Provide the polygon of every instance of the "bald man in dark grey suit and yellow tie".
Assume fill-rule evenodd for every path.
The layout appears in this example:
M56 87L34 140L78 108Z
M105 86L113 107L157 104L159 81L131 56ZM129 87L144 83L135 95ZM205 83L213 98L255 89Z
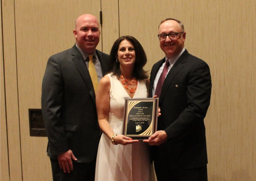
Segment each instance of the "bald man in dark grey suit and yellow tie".
M47 155L54 181L94 181L100 131L88 56L93 54L98 81L108 71L109 56L96 50L100 30L95 16L79 16L73 33L75 45L51 56L43 77Z

